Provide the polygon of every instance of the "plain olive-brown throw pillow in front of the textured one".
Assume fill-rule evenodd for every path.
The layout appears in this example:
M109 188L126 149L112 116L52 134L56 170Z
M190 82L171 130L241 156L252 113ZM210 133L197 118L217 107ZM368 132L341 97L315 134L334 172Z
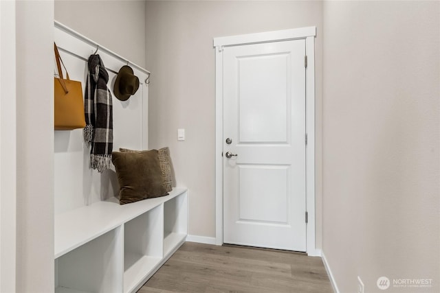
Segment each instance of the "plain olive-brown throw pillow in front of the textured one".
M112 161L120 185L120 204L168 195L162 185L157 150L142 153L113 152Z

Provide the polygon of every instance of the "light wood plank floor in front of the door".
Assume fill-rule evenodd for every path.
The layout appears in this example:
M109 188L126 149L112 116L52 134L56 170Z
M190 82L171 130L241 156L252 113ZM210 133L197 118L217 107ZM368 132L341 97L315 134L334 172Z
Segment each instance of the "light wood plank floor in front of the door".
M333 292L319 257L186 242L138 293Z

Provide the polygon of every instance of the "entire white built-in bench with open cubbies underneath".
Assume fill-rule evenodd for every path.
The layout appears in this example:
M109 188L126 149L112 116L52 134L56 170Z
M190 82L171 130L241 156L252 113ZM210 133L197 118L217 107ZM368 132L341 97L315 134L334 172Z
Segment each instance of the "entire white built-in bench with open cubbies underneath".
M187 190L120 205L116 198L55 217L55 292L136 292L184 243ZM73 289L77 288L77 289Z

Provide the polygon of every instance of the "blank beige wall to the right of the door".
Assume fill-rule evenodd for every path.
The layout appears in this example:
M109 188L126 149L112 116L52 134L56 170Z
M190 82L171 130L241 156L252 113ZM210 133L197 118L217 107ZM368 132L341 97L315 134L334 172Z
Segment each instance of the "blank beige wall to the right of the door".
M438 1L324 4L323 243L340 292L440 291Z

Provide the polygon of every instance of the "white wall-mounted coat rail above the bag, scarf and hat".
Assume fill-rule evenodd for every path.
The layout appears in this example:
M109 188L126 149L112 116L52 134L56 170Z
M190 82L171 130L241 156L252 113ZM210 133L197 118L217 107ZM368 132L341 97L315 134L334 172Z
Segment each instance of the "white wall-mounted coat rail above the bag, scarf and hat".
M87 36L83 36L82 34L72 30L71 28L63 25L62 23L60 23L58 21L54 21L54 25L58 29L63 30L64 32L67 32L68 34L71 34L72 36L75 36L79 40L82 40L84 43L87 43L87 44L89 44L89 45L91 45L93 47L96 47L97 51L102 51L105 54L109 54L110 56L113 56L114 58L116 58L116 59L126 63L127 65L131 65L131 67L135 67L136 69L146 73L147 78L145 80L145 83L149 84L149 78L150 78L150 75L151 75L150 71L144 69L143 67L140 67L139 65L131 62L130 60L127 60L126 58L123 58L122 56L116 54L115 52L111 51L110 49L107 49L106 47L103 47L102 45L94 42L93 40L91 40L89 38L87 38ZM75 54L74 52L69 51L68 49L63 48L62 46L61 47L58 46L58 49L61 49L62 51L65 51L68 54L72 54L73 56L75 56L77 58L80 58L81 60L85 60L87 62L87 58L85 58L83 56L79 56L78 54ZM118 74L118 72L114 71L113 69L107 68L107 70L109 70L109 71L111 71L111 72L113 72L115 74Z

